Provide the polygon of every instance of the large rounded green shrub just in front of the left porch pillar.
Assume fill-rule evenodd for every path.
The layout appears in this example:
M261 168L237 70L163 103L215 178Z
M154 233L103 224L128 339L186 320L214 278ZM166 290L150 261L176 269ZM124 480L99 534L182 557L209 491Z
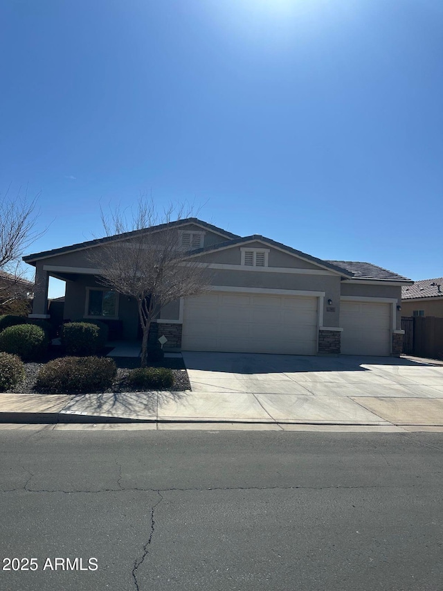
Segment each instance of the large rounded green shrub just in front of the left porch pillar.
M19 355L24 361L41 360L48 349L48 335L33 324L10 326L0 333L0 351Z

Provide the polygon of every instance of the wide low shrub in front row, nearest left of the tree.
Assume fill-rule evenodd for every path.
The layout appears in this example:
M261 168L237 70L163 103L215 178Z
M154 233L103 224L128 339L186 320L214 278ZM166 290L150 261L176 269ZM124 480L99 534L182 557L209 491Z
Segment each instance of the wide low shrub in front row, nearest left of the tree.
M35 389L48 394L103 391L112 386L116 374L116 363L109 358L64 357L42 367Z

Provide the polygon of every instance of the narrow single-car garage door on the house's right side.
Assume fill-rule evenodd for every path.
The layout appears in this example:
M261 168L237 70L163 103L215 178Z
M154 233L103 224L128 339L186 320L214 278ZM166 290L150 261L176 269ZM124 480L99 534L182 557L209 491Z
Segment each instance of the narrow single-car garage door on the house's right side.
M390 304L341 301L341 353L390 355Z

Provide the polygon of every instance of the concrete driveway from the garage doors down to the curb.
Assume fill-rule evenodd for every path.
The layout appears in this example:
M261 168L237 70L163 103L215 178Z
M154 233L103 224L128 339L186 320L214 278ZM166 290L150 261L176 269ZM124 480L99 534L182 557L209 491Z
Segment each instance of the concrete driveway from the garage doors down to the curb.
M414 358L339 358L183 353L192 394L208 405L255 409L275 421L443 425L443 363ZM246 418L246 417L245 417ZM248 416L248 418L250 418Z

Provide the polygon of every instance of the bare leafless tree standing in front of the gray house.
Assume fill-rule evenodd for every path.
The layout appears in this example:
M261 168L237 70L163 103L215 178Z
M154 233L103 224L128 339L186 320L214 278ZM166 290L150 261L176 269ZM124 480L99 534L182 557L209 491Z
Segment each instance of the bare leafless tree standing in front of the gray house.
M202 293L208 289L206 266L181 245L179 222L190 217L186 206L170 206L159 214L152 199L142 195L135 211L114 209L102 223L107 236L89 255L100 269L100 283L138 304L138 318L143 332L141 367L147 366L148 335L152 321L163 306Z

